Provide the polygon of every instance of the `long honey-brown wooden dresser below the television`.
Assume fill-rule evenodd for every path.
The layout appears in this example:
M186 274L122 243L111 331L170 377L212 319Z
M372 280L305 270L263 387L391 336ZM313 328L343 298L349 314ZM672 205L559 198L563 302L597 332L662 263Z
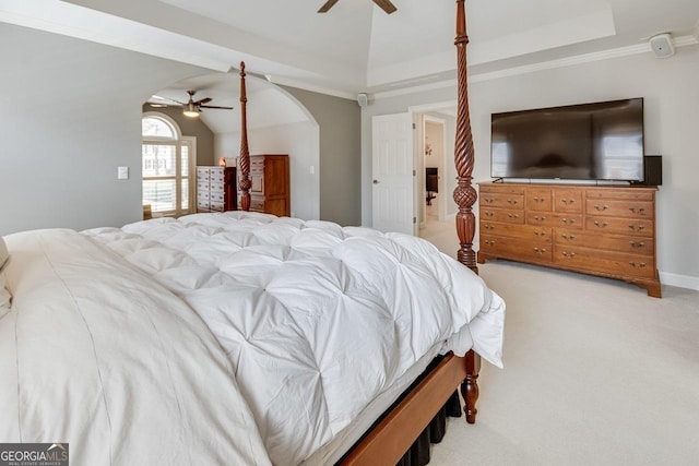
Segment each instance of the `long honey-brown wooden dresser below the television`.
M656 191L482 183L478 263L499 258L618 278L660 298Z

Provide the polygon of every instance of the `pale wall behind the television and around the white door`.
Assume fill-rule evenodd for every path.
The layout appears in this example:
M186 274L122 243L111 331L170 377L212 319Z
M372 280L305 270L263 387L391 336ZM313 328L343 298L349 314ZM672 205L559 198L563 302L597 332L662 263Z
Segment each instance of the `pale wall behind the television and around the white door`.
M645 153L663 156L657 194L657 267L666 284L699 289L699 46L668 59L650 51L469 85L476 164L474 180L489 180L490 113L524 108L643 97ZM371 223L372 115L453 99L455 88L377 98L363 112L363 223ZM368 169L367 169L368 167Z

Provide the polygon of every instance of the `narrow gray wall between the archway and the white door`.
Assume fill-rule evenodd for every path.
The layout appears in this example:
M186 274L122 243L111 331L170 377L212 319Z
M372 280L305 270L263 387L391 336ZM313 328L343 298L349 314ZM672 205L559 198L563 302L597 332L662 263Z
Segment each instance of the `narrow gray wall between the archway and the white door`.
M320 218L362 222L360 107L356 100L284 87L320 127Z

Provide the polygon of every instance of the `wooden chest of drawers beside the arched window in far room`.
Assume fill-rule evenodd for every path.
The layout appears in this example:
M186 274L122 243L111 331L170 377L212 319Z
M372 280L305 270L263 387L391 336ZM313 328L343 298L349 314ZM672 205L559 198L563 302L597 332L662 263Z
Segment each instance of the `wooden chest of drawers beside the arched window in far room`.
M197 167L197 212L235 211L235 167Z

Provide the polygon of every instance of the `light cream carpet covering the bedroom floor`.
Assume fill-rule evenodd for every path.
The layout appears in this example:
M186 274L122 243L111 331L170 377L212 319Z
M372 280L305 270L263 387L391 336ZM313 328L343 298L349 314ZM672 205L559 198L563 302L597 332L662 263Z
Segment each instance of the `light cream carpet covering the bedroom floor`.
M454 256L453 223L420 236ZM479 377L476 425L450 419L440 465L699 464L699 292L491 261L505 369Z

